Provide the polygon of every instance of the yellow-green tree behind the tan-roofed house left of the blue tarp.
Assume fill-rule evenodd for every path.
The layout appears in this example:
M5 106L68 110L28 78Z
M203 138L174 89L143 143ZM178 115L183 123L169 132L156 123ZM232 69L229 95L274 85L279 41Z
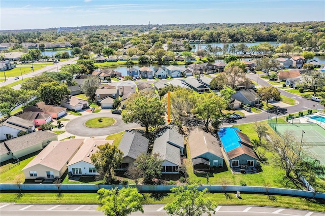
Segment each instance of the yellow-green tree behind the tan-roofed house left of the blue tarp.
M222 97L214 93L193 95L194 112L203 120L205 129L208 131L210 122L221 115L226 104Z

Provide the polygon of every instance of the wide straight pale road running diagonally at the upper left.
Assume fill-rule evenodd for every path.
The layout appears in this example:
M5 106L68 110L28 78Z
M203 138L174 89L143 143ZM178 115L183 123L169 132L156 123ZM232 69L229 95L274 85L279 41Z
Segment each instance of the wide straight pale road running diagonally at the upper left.
M58 63L55 63L55 64L51 64L52 62L49 62L47 66L39 69L39 70L35 70L34 72L30 72L28 74L24 74L23 75L23 78L28 78L28 77L35 77L35 76L39 76L41 75L43 72L45 71L57 71L59 70L63 65L66 65L66 64L74 64L76 63L75 61L78 59L78 57L74 57L74 58L71 58L67 61L59 61ZM37 64L35 64L37 65ZM18 64L18 67L19 67L19 64ZM19 79L21 79L21 76L19 76ZM17 80L15 80L14 77L7 77L7 80L5 82L2 82L0 83L0 86L6 86L6 85L9 85L9 84L12 84L14 82L16 82ZM14 86L16 87L15 89L19 89L21 85L17 85L17 86ZM19 87L19 88L17 88Z

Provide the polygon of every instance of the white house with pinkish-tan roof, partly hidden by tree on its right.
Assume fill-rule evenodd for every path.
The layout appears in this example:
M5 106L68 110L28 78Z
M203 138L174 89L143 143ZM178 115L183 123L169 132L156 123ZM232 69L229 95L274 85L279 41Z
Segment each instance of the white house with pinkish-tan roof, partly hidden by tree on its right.
M73 175L97 175L98 172L91 162L91 156L99 151L99 146L106 143L112 145L113 140L105 140L105 138L85 139L78 152L67 164L68 172Z

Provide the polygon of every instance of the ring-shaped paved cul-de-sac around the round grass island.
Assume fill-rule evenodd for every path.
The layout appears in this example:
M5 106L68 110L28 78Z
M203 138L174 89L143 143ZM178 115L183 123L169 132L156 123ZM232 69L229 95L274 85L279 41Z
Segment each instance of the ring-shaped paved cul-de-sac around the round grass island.
M114 125L103 127L103 128L89 128L85 126L85 122L87 120L93 118L99 118L99 117L114 118L116 120L116 123ZM69 123L66 124L66 131L78 136L91 137L91 136L103 136L103 135L114 134L124 130L138 128L138 127L140 127L140 125L135 123L125 124L122 121L121 115L116 115L112 113L96 113L96 114L89 114L86 116L78 117L76 119L69 121Z

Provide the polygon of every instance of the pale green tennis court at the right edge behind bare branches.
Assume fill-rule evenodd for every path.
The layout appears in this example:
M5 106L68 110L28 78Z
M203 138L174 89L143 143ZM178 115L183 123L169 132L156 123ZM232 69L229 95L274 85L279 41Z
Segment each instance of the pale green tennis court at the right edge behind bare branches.
M271 125L270 125L271 126ZM325 129L314 123L306 124L272 124L273 130L276 127L278 133L283 133L285 130L293 131L297 140L306 143L307 150L318 159L321 164L325 165Z

